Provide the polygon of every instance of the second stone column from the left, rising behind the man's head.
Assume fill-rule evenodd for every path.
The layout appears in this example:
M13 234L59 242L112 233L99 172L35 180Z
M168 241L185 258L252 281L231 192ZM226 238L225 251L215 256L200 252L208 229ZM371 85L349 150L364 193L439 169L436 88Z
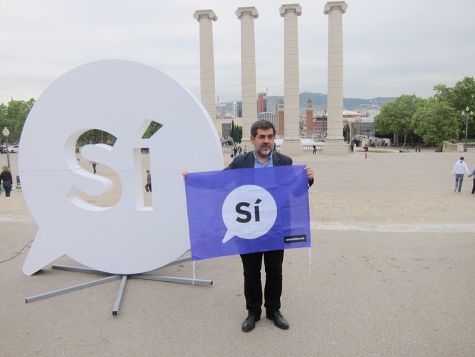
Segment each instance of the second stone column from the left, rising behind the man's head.
M241 147L251 147L251 125L257 120L255 101L255 39L254 19L259 17L253 6L237 8L237 19L241 20L241 90L242 90L242 141Z

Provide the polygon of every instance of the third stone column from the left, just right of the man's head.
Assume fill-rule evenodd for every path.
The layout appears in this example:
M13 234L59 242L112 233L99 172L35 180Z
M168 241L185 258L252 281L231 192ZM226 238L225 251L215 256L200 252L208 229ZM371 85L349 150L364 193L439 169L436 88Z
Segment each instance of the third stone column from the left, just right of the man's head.
M284 154L303 154L299 127L299 35L297 17L302 7L297 3L282 5L280 16L284 17Z

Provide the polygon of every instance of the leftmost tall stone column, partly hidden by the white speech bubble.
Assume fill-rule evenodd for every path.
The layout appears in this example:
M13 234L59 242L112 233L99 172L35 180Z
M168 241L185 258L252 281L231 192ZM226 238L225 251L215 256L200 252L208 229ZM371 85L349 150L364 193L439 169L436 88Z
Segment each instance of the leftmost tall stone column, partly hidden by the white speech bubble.
M216 119L213 21L218 17L213 10L197 10L193 17L200 23L200 89L201 103L209 112L209 116L222 137L221 122Z

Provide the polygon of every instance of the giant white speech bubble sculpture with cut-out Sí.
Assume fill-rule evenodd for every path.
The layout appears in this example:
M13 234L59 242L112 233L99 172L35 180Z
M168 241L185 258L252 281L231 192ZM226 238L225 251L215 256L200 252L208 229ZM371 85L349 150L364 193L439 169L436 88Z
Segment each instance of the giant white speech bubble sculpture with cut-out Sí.
M152 121L162 128L142 139ZM76 160L76 141L93 129L117 138L113 146L81 150L87 160L118 175L122 192L111 207L78 196L98 196L114 185ZM142 148L149 149L153 207L142 199ZM23 194L39 225L23 273L34 274L65 254L112 274L149 272L171 263L189 249L181 172L220 170L222 163L207 110L166 74L122 60L67 72L41 94L21 135Z

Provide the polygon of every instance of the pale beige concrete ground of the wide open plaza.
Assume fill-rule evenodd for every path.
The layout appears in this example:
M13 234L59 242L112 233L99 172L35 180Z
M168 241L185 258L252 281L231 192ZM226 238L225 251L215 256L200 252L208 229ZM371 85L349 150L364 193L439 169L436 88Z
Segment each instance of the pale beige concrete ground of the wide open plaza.
M101 276L50 267L24 276L37 226L21 191L2 194L0 356L474 356L475 196L466 176L462 192L453 192L459 156L293 158L311 165L316 180L313 247L284 258L287 331L265 318L241 331L238 256L196 262L196 278L211 287L129 280L118 316L120 281L26 304ZM473 170L475 152L464 156ZM17 154L10 159L15 175ZM112 175L100 165L98 174ZM55 263L79 265L67 256ZM190 278L193 265L156 274Z

